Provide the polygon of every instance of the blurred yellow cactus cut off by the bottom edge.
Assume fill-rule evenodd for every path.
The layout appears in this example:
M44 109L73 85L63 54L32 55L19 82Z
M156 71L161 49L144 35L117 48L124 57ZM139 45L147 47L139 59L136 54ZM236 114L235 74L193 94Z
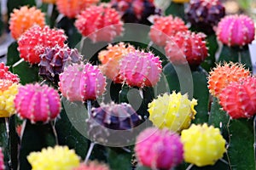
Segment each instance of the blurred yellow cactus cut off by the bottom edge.
M32 170L70 170L79 167L79 156L67 146L48 147L41 152L32 152L27 156Z

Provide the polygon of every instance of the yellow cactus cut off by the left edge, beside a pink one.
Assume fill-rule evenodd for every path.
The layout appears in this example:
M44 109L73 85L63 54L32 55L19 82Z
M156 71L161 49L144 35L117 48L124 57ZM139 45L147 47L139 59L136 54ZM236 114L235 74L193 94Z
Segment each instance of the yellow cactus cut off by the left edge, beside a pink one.
M0 80L0 117L9 117L15 114L15 95L18 94L17 83Z

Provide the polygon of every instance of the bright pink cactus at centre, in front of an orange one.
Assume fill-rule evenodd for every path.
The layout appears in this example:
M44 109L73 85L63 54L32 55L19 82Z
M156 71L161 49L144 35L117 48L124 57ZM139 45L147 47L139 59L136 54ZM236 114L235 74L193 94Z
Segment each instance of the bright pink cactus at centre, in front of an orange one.
M153 87L160 79L162 65L159 57L141 51L126 54L120 61L120 79L129 86Z

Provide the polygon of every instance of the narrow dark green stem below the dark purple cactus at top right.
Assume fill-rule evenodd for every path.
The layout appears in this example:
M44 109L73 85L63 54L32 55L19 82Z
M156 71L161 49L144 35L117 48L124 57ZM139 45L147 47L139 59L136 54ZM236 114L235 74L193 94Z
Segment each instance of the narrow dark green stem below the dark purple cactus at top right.
M206 71L211 71L212 67L215 66L215 54L218 50L218 42L215 34L211 34L207 36L207 47L209 56L207 59L201 63L201 67L203 67Z

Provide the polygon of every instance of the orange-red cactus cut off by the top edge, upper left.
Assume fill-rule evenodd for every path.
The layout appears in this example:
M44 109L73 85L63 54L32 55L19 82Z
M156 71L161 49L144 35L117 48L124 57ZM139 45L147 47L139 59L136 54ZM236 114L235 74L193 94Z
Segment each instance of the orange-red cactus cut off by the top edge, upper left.
M99 2L99 0L55 0L58 10L68 18L75 18L85 8Z

